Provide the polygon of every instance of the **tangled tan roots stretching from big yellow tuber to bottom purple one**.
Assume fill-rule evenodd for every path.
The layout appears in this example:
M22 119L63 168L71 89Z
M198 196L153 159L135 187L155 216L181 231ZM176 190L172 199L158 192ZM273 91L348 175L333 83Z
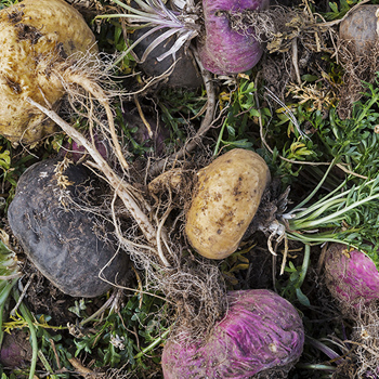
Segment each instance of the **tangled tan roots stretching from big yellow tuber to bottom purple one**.
M155 192L149 193L148 187L141 183L134 185L112 107L112 99L123 93L110 84L108 88L103 86L113 82L109 79L114 57L104 60L104 56L87 55L69 62L53 67L52 73L67 92L69 107L66 114L80 115L87 121L88 131L74 128L49 104L39 104L31 99L28 102L53 119L75 142L84 146L90 157L86 166L108 186L102 215L114 225L119 253L127 253L135 269L144 275L144 291L165 296L171 305L169 314L174 322L173 330L180 334L184 328L186 334L190 331L195 338L204 338L205 332L224 314L226 290L218 265L194 257L186 248L182 224L195 171L179 175L180 180L187 178L185 185L180 180L177 183L171 174L165 175L165 170L160 170L164 177L155 181L155 187L151 186ZM211 84L207 86L211 89ZM211 95L210 103L212 107L208 109L206 122L202 122L190 148L197 146L197 139L210 127L214 105ZM99 138L106 141L108 157L103 157L97 151L95 142ZM185 157L187 147L175 156L177 162ZM162 164L166 165L167 160ZM148 173L147 177L152 178ZM187 198L184 200L184 197ZM82 204L80 206L83 207ZM116 283L113 285L122 288Z

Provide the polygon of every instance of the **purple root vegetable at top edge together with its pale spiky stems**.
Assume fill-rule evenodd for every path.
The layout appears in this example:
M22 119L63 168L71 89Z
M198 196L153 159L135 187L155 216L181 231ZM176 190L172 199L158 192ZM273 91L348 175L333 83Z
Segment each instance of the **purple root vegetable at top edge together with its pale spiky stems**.
M170 49L165 49L162 54L157 55L158 61L164 61L169 55L174 58L175 53L182 47L187 47L194 38L197 38L202 66L213 74L232 75L246 71L262 56L263 47L257 40L252 25L246 22L244 15L265 10L270 0L202 0L202 12L199 12L199 6L193 1L186 2L182 9L175 11L167 9L161 0L138 0L135 3L139 9L120 0L112 1L128 13L99 17L125 17L133 26L149 27L145 32L146 38L158 30L165 30L148 45L142 61L172 36L175 36L175 42ZM140 43L141 38L136 39L130 49Z

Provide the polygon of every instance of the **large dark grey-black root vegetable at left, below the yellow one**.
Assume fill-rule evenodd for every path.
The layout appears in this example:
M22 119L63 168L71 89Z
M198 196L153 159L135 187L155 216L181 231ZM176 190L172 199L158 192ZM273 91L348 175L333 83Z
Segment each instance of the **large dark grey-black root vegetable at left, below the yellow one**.
M58 289L73 297L96 297L110 288L99 278L103 272L110 283L128 275L128 257L116 253L109 224L76 202L91 187L88 171L69 166L56 174L57 160L31 166L21 177L8 218L13 234L39 271ZM58 185L60 180L61 185Z

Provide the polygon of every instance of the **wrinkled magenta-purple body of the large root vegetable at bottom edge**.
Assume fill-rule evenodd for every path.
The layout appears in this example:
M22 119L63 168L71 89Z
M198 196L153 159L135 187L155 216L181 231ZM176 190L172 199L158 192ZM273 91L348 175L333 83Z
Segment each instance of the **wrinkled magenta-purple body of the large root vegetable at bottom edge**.
M228 292L228 311L207 341L169 341L165 379L246 379L291 366L302 354L304 329L291 303L267 289Z

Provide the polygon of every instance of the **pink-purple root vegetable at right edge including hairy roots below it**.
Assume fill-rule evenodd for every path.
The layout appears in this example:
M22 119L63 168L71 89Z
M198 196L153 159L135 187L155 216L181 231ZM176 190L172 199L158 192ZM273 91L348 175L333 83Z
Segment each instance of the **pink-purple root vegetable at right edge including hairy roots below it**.
M354 347L358 378L379 378L379 273L364 252L332 244L325 256L325 283L344 317L353 323L349 343Z

